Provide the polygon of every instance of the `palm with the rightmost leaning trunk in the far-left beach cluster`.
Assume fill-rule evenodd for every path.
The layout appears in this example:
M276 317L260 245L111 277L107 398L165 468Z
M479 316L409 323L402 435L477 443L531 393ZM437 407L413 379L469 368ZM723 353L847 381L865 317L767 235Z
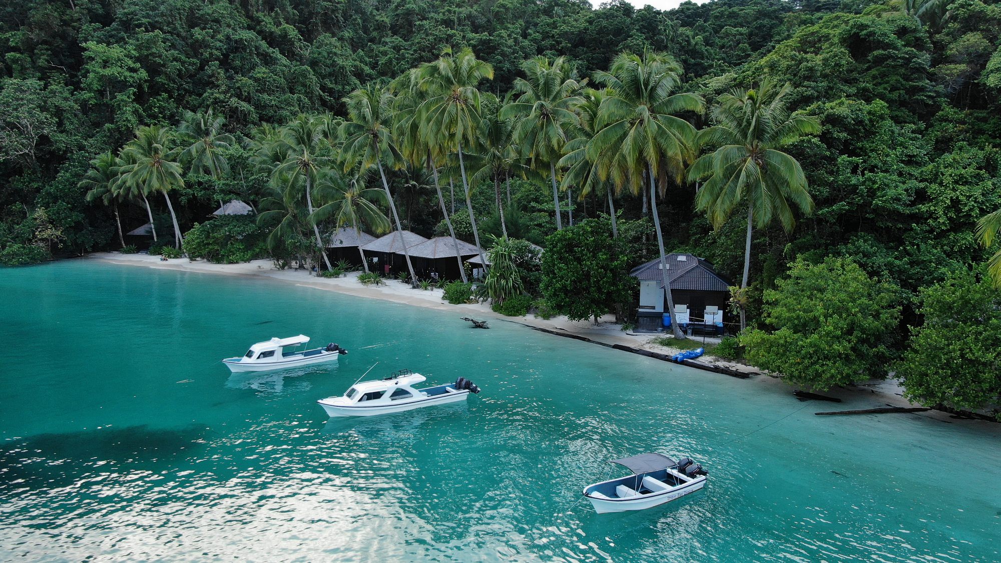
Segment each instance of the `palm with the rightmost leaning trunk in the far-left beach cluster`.
M123 166L122 172L129 184L142 188L144 197L147 193L156 191L163 193L163 198L167 200L167 209L170 210L170 218L174 223L174 247L180 248L184 238L181 236L177 214L174 213L174 206L170 203L168 194L175 187L184 187L184 179L181 178L183 170L177 163L178 150L166 148L172 140L170 130L166 127L160 125L139 127L135 135L123 150L134 159L134 163Z

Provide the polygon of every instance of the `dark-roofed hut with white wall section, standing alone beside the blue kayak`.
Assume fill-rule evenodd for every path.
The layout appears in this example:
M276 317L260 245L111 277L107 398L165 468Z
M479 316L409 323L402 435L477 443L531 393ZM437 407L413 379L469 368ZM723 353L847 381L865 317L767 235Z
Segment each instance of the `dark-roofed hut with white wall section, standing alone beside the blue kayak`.
M696 327L722 334L723 316L730 301L729 279L712 262L685 252L667 255L667 275L662 276L661 258L633 268L630 275L640 279L638 332L661 332L676 320L682 328ZM674 315L668 311L664 279L671 285Z

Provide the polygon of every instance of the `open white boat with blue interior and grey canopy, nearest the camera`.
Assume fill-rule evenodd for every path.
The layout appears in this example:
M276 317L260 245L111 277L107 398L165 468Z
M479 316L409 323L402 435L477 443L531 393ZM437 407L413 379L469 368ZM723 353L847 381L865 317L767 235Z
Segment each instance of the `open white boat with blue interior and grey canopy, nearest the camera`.
M646 510L706 485L706 471L688 458L676 462L661 454L643 454L609 463L625 466L633 475L585 487L584 496L599 514Z

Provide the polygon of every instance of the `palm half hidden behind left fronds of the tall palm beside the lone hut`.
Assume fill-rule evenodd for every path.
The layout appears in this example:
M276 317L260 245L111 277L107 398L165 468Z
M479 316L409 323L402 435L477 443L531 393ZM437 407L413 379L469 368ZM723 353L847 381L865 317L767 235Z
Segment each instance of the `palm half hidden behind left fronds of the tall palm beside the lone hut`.
M603 189L605 190L609 197L612 236L619 236L616 203L612 199L613 190L608 185L608 181L602 179L601 174L599 174L598 159L591 160L588 158L588 145L591 143L591 139L595 137L595 133L598 132L599 111L606 95L604 89L594 90L588 88L584 90L581 96L584 101L574 108L578 115L580 126L575 131L574 138L568 141L564 147L567 151L566 156L561 158L557 165L568 167L567 173L564 174L562 187L569 189L571 185L580 186L582 199L593 190L598 190L599 192Z

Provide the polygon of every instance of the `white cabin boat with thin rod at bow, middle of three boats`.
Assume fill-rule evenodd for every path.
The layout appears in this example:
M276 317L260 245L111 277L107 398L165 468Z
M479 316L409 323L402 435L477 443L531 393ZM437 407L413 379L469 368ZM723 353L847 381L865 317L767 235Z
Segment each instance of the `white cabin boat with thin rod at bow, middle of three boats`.
M400 370L380 380L355 383L343 396L320 399L317 403L331 417L370 417L456 403L465 401L470 393L479 393L479 388L465 378L458 378L453 384L413 388L426 379L409 370Z

